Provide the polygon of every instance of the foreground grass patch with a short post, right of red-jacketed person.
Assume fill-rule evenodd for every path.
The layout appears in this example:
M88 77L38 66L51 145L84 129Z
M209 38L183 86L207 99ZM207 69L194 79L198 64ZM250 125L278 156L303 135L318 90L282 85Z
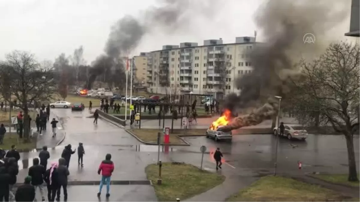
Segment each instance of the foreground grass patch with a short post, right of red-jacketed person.
M163 163L161 171L162 184L157 184L159 167L148 165L146 175L152 181L159 202L181 201L203 193L225 180L225 176L202 171L188 164Z

